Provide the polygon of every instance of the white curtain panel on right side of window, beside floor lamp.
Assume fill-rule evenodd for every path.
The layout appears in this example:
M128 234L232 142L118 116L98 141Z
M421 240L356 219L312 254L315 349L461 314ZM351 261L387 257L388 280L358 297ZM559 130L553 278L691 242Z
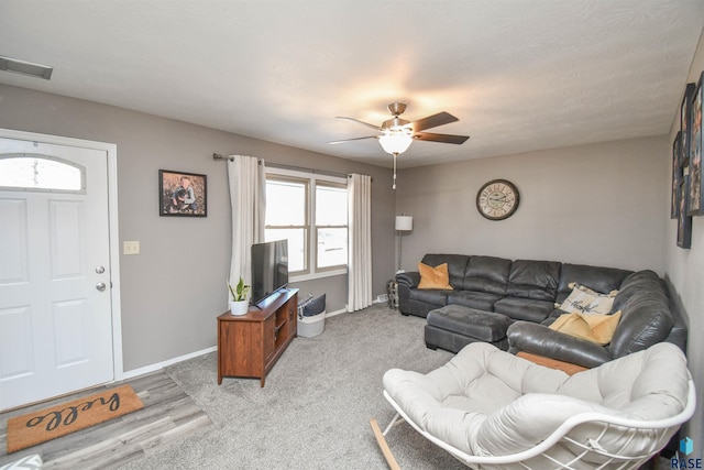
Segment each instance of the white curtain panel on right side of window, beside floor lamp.
M348 311L372 305L372 177L348 177Z

